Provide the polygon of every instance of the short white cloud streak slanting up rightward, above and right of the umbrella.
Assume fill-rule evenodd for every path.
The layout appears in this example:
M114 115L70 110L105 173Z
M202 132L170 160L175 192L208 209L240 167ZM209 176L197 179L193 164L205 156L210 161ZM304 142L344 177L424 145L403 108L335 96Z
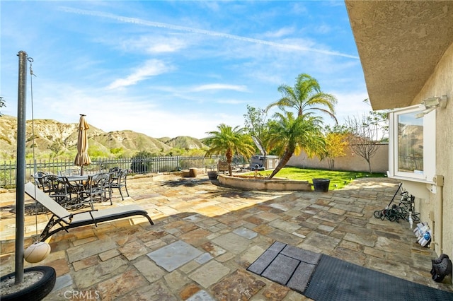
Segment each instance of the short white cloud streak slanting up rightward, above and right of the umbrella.
M124 88L128 85L135 85L139 81L144 81L150 76L156 76L171 69L172 67L166 66L163 61L159 61L158 59L149 59L148 61L145 61L143 66L139 66L137 69L135 69L132 74L125 78L118 78L117 80L113 81L113 83L110 83L107 88L109 90L113 90Z

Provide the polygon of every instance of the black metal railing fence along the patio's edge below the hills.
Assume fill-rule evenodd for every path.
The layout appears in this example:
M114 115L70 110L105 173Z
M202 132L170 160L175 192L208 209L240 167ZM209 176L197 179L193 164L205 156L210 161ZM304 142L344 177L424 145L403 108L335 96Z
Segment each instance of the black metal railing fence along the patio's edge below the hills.
M151 157L151 158L96 158L91 159L91 164L84 166L84 174L95 174L97 172L108 172L110 168L120 167L127 169L132 174L145 174L152 172L173 172L188 170L189 168L206 168L217 170L219 160L223 156L197 157ZM235 163L242 163L242 160L235 158ZM31 179L36 172L47 172L57 175L59 172L74 169L74 160L28 160L25 163L25 181ZM80 167L76 167L79 168ZM16 161L0 162L0 188L16 187Z

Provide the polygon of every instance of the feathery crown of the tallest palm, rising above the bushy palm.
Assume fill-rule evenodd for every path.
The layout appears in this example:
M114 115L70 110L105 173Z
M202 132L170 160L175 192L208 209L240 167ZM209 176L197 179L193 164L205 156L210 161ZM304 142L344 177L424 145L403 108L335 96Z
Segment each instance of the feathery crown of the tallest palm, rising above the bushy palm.
M280 87L278 87L278 92L282 94L282 98L277 100L277 102L268 105L266 111L275 106L283 111L285 111L287 107L292 107L297 110L298 117L307 113L313 114L314 112L321 112L323 114L328 114L335 122L337 122L335 117L335 105L337 100L335 96L323 93L318 81L308 74L299 74L294 88L285 84L280 85Z

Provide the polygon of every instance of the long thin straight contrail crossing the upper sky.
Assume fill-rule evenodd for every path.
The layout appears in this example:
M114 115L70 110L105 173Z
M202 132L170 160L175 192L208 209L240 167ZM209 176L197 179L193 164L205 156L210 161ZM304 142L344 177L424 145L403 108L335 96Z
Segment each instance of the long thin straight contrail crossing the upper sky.
M196 33L199 35L210 35L213 37L224 37L226 39L231 39L231 40L240 40L243 42L251 42L251 43L256 43L256 44L261 44L261 45L268 45L268 46L272 46L272 47L280 47L280 48L285 48L285 49L290 49L290 50L300 51L300 52L317 52L317 53L326 54L326 55L330 55L330 56L348 57L350 59L359 59L359 57L354 56L354 55L328 51L325 49L316 49L316 48L304 47L301 45L282 44L282 43L270 42L270 41L266 41L266 40L253 39L251 37L241 37L240 35L230 35L228 33L219 33L219 32L212 31L212 30L188 28L185 26L153 22L153 21L143 20L140 18L117 16L112 13L104 13L102 11L86 11L83 9L70 8L67 6L60 6L59 9L61 11L67 12L67 13L78 13L78 14L86 15L86 16L110 18L110 19L117 20L117 21L120 21L123 23L133 23L133 24L137 24L137 25L151 26L151 27L155 27L155 28L166 28L169 30L184 31L184 32L188 32L188 33Z

